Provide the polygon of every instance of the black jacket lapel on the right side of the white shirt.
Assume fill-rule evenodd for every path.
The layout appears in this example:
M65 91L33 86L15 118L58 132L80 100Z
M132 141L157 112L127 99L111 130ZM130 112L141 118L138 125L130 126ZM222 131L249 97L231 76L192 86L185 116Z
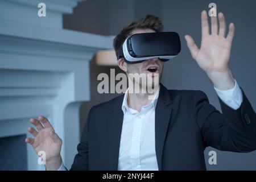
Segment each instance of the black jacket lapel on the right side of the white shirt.
M164 141L172 113L172 102L168 90L160 84L160 93L155 109L155 151L158 169L162 170Z

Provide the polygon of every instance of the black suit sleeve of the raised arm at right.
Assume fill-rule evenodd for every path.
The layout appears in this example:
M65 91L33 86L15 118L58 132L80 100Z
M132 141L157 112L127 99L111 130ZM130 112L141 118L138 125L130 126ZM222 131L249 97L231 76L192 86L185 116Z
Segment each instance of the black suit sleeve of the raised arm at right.
M204 147L233 152L256 150L256 115L245 93L242 94L243 101L237 110L219 99L222 114L209 104L204 92L195 94L194 113Z

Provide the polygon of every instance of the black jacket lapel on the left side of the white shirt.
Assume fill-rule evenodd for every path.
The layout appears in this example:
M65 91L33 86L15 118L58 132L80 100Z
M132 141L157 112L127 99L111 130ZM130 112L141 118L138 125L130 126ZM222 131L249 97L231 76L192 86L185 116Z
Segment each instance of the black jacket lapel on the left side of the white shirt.
M109 164L110 170L113 171L118 169L119 146L123 125L122 101L123 96L120 96L108 115Z

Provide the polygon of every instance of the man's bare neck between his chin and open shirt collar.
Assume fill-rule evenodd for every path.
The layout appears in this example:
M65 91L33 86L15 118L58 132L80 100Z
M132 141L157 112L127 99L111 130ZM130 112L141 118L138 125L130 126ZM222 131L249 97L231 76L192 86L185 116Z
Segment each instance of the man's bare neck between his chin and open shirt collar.
M153 93L129 93L127 97L127 105L134 110L141 111L142 106L146 106L150 104L152 98L154 98L159 85L154 88Z

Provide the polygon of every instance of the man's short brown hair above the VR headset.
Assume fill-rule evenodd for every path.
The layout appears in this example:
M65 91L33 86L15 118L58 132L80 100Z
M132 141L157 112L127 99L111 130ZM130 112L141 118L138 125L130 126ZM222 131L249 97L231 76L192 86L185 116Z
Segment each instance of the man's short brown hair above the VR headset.
M158 16L146 15L144 18L138 19L129 26L123 28L123 30L114 38L113 46L115 49L115 55L118 56L119 48L122 46L123 42L125 42L125 39L137 28L149 28L156 32L162 32L164 27Z

